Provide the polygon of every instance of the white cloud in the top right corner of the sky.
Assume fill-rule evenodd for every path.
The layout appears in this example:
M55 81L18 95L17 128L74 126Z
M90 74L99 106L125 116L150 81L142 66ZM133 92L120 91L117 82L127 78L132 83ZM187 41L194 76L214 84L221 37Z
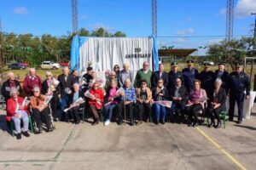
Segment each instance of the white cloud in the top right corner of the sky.
M235 15L239 18L250 16L251 13L256 13L255 0L238 0L235 8Z

